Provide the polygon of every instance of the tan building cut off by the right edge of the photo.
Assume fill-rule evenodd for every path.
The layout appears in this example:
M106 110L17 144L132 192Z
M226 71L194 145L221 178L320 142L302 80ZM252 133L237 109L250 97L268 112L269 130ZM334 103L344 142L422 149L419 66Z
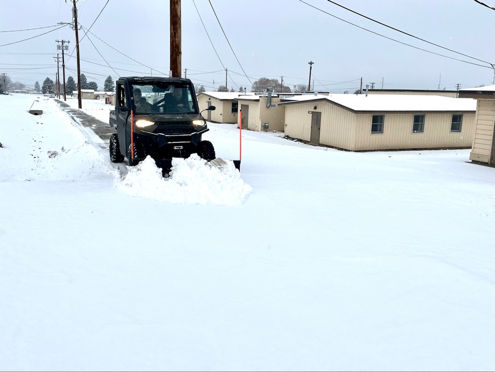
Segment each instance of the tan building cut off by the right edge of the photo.
M477 100L475 136L469 159L495 166L495 85L461 89L459 97Z

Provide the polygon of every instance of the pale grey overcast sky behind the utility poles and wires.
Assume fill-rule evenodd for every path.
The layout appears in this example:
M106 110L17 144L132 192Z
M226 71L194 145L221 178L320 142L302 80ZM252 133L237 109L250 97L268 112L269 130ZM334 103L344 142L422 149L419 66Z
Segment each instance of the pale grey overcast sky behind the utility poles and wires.
M431 90L491 85L495 10L490 7L495 7L495 0L480 1L487 6L475 0L334 1L416 37L412 38L327 0L182 0L183 77L187 69L195 84L216 91L226 84L227 69L229 90L247 87L249 92L261 77L280 81L282 76L284 85L293 89L308 84L312 61L311 85L333 93L353 93L361 78L363 88L375 83L379 89L382 85ZM55 80L55 40L63 39L70 41L66 78L77 80L75 33L68 25L59 30L5 32L71 23L72 6L72 0L2 0L0 73L27 86L36 81L41 85L47 77ZM77 7L83 27L81 72L88 81L96 81L102 89L109 75L114 80L168 75L169 1L78 0ZM15 44L5 45L10 43Z

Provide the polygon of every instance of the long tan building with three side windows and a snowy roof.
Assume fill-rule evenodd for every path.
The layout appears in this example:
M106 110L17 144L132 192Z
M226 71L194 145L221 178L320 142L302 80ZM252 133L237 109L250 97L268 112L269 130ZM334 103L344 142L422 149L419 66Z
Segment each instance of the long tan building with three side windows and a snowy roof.
M283 99L285 135L351 151L469 148L476 101L439 95L331 94Z

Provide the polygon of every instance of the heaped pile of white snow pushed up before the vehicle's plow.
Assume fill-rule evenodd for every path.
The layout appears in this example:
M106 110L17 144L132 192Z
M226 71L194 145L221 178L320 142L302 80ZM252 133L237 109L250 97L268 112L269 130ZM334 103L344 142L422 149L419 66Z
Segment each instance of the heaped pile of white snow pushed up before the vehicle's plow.
M170 177L163 178L154 160L147 157L129 171L118 185L133 196L176 204L240 205L252 191L232 161L217 167L192 154L173 158Z

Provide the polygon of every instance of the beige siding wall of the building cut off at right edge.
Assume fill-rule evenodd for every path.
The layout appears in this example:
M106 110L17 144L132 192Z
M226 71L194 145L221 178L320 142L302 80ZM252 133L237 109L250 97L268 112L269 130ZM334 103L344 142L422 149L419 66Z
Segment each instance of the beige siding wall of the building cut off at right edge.
M494 99L478 99L475 121L476 129L469 159L489 163L494 138Z

